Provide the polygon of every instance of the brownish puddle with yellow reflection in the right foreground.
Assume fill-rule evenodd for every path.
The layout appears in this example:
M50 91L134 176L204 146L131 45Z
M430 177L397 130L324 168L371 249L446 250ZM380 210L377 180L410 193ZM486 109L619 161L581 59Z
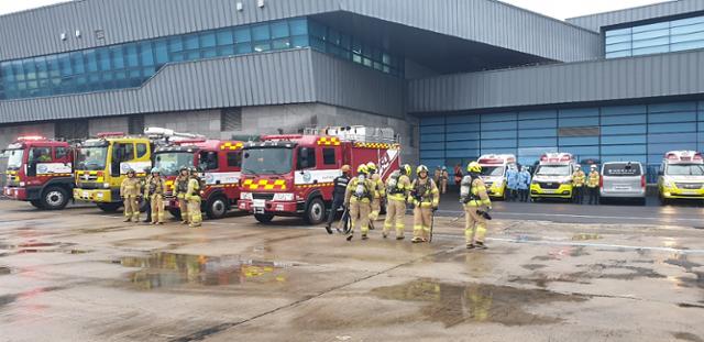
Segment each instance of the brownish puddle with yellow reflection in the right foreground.
M588 298L541 289L521 289L490 284L455 285L421 278L406 284L373 289L372 295L388 300L426 304L425 320L446 328L465 322L494 322L504 326L551 324L559 317L540 316L527 310L556 301L581 302Z

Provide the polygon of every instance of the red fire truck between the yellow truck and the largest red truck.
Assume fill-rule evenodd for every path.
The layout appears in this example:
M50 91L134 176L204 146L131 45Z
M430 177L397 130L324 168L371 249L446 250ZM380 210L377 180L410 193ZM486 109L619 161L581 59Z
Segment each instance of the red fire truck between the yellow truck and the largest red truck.
M220 219L228 210L237 208L240 199L240 169L242 147L240 141L190 140L173 142L156 150L154 165L166 177L166 209L180 218L178 200L174 197L174 180L182 167L202 170L206 186L202 189L204 211L210 219Z

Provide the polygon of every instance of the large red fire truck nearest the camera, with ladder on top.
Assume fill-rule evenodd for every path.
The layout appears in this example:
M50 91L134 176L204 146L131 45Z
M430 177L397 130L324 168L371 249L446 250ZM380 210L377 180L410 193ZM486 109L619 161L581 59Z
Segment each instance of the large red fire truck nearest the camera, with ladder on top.
M309 129L268 135L244 146L239 208L266 223L275 216L322 222L342 165L374 162L385 180L400 167L400 145L391 129Z

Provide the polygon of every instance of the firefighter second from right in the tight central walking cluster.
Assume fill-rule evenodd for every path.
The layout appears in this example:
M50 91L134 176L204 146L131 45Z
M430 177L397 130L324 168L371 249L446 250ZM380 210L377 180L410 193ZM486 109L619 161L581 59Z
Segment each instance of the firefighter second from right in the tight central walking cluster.
M410 165L404 165L399 170L395 170L386 179L386 220L384 221L384 239L388 236L388 231L396 225L396 240L404 240L406 229L406 199L410 191Z

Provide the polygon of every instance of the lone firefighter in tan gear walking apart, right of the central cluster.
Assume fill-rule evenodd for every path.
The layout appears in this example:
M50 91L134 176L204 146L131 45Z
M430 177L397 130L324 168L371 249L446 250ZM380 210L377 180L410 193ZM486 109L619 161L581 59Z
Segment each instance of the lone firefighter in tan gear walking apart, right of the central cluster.
M492 200L486 194L484 180L480 177L482 166L472 162L466 167L468 175L460 186L460 201L464 207L465 225L464 238L468 250L485 250L484 236L486 235L486 221L488 211L492 210Z

